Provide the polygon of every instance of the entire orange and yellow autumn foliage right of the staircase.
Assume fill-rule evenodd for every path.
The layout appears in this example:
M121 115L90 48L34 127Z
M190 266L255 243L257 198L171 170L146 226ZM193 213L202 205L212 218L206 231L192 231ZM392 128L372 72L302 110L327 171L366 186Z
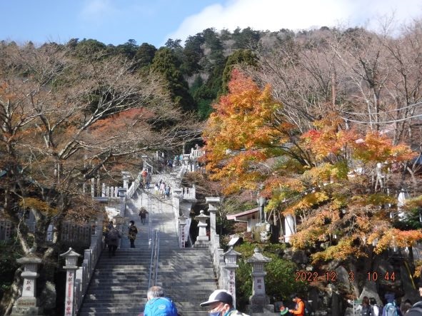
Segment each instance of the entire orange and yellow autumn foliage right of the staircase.
M316 263L368 258L422 239L421 230L398 228L391 195L398 190L391 170L415 156L408 146L346 126L336 113L300 133L280 120L271 87L235 70L228 88L204 131L211 178L226 194L262 183L267 212L298 218L294 248L312 249Z

